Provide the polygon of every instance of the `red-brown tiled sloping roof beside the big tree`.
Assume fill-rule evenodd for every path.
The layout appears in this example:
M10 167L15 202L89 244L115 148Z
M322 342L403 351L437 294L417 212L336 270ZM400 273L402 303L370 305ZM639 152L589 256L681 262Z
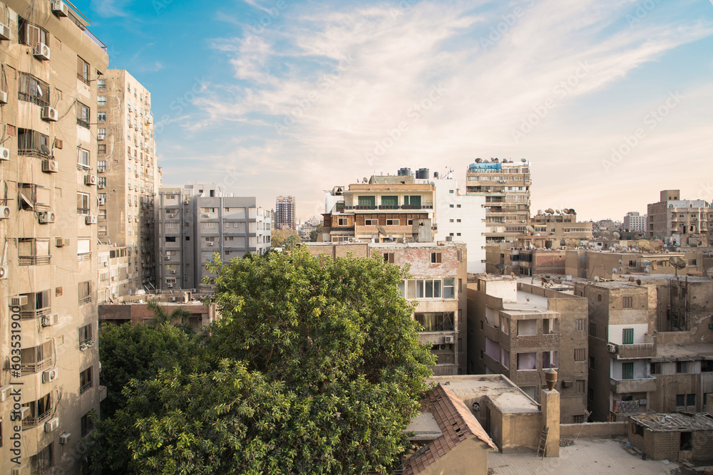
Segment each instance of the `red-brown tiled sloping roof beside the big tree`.
M406 459L404 474L419 474L454 449L457 444L473 436L478 437L491 448L498 449L466 404L463 404L463 401L459 400L451 390L439 384L429 392L429 397L434 419L443 435Z

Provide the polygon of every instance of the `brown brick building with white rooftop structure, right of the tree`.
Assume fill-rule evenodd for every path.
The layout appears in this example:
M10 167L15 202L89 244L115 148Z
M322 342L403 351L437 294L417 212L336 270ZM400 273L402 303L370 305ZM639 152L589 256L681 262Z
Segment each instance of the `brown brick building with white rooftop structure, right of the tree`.
M587 322L584 298L515 278L468 284L468 373L502 374L540 401L545 371L558 372L560 421L585 422Z

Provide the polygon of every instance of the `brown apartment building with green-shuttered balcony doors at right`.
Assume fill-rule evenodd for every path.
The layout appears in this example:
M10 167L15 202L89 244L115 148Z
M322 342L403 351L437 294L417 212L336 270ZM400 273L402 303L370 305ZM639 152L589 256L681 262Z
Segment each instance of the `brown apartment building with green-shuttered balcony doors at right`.
M589 409L597 421L701 412L713 392L713 280L575 283L590 311Z

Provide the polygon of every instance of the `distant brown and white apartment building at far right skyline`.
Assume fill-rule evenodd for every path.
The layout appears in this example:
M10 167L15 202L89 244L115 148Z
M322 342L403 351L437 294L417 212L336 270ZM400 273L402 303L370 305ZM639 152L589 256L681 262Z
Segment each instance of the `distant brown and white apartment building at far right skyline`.
M690 235L713 242L713 208L702 199L681 199L678 189L665 189L657 203L647 207L647 236L673 244L688 244ZM704 244L707 245L707 244Z

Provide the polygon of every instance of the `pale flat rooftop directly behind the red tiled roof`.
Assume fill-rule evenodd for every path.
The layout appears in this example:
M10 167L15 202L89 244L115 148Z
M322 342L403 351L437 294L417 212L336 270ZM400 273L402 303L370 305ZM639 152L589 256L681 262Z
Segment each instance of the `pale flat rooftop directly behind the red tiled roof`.
M489 397L503 413L540 412L538 403L504 375L434 376L426 382L440 382L462 401Z

